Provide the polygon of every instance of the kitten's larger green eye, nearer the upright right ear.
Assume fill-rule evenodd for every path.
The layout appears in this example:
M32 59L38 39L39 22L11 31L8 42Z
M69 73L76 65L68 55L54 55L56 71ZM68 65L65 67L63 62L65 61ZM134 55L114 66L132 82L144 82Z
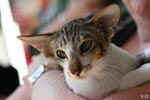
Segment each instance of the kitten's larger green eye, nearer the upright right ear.
M92 40L85 40L81 45L80 45L80 52L85 53L92 49L93 47L93 41Z

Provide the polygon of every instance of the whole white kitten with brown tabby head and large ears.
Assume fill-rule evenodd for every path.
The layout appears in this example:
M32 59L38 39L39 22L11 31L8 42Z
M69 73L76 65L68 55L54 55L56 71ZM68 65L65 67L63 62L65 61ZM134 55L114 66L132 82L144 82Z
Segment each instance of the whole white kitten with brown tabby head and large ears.
M114 90L150 80L150 64L137 69L136 57L111 43L119 17L119 7L110 5L95 16L65 24L58 32L19 39L42 52L50 64L61 66L75 93L100 100Z

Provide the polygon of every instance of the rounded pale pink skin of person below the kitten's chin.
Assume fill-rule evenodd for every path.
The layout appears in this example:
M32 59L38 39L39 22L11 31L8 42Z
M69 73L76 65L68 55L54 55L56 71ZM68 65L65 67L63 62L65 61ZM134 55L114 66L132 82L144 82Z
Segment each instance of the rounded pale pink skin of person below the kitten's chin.
M87 100L67 87L64 75L60 71L49 71L43 74L32 91L32 100Z

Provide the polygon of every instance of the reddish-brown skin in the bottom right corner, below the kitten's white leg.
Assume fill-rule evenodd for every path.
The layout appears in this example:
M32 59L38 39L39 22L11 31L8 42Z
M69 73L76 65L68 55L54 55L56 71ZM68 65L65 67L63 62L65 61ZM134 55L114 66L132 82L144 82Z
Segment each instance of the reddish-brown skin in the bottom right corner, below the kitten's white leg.
M150 82L135 88L121 90L103 100L150 100Z

